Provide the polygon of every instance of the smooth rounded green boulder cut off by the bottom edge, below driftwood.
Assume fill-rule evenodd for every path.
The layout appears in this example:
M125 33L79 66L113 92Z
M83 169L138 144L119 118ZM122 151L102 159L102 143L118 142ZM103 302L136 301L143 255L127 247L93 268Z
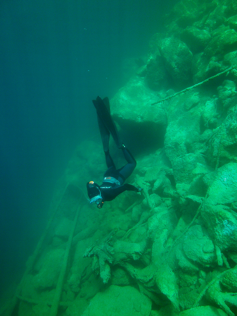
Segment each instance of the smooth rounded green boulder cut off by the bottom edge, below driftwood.
M151 300L131 286L111 285L97 293L82 316L149 316Z

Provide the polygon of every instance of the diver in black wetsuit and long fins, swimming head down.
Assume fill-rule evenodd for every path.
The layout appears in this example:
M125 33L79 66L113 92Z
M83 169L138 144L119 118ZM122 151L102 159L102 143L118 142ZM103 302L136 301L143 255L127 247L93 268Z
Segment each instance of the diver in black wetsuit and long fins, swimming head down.
M97 207L100 209L105 201L112 201L124 191L140 192L143 189L129 183L124 183L125 180L132 174L137 162L120 140L116 125L110 115L109 99L106 97L102 100L98 96L96 100L93 100L92 102L97 112L98 125L108 169L104 174L102 185L98 185L94 181L90 181L87 183L87 192L88 197L90 198L90 203L96 203ZM109 153L110 134L117 147L122 149L125 160L127 161L127 164L120 169L116 169Z

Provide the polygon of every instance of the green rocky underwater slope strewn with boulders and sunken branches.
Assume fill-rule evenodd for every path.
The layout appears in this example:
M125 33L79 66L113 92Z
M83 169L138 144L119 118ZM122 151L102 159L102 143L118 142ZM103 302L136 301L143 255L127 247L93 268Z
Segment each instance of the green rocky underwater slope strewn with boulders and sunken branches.
M53 198L44 250L18 291L17 315L53 315L76 210L58 315L237 315L236 30L234 0L173 8L146 64L111 100L137 159L127 182L144 191L100 210L89 205L81 191L101 183L106 165L100 142L80 144Z

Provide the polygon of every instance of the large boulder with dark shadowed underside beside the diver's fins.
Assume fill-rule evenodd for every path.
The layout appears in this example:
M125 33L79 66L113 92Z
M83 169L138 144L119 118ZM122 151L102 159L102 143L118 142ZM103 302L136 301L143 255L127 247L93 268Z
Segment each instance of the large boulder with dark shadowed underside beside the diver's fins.
M110 100L112 117L123 135L127 133L126 145L133 151L140 149L141 143L155 149L164 143L167 116L161 104L151 105L156 100L154 91L138 77L132 78Z

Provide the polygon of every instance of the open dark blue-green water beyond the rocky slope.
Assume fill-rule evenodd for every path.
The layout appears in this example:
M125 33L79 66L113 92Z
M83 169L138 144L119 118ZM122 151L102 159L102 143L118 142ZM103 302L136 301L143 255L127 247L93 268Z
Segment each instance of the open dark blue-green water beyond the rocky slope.
M176 2L1 1L3 290L19 282L76 144L98 134L91 100L110 98L125 83L123 61L148 52Z

